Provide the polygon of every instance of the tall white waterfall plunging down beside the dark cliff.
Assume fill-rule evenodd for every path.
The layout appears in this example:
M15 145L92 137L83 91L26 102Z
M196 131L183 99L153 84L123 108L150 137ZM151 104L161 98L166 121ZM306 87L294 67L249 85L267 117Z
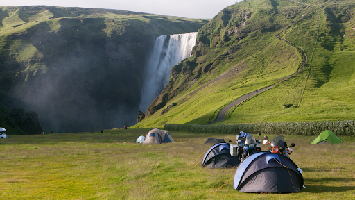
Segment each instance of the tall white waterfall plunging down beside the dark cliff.
M148 108L169 81L171 68L191 56L196 44L197 32L162 35L155 40L154 49L144 69L144 85L141 90L139 110Z

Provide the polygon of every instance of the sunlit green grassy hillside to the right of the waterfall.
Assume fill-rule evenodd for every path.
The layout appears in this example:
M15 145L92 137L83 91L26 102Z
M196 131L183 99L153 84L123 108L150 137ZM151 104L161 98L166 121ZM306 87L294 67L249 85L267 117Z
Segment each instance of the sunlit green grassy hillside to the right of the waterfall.
M223 9L135 127L206 124L269 85L220 124L354 119L354 8L348 0L246 0Z

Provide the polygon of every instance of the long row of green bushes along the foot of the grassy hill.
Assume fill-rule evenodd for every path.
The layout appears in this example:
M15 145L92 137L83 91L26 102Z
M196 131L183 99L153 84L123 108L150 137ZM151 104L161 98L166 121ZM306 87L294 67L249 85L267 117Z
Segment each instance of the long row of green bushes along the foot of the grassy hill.
M193 133L236 134L240 131L246 133L269 133L285 135L319 135L329 130L336 135L354 135L355 120L326 121L326 122L264 122L256 124L235 125L198 125L198 124L165 124L168 131L187 131Z

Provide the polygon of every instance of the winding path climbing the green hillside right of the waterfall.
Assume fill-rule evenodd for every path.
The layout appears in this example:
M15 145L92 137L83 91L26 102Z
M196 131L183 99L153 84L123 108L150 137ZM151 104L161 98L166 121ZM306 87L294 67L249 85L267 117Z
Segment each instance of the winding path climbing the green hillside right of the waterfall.
M292 1L292 0L291 0ZM297 1L293 1L294 3L300 3ZM300 4L304 4L304 3L300 3ZM311 12L313 10L313 7L309 6L308 4L306 4L307 7L311 8L311 10L309 10L309 12ZM304 19L304 17L306 17L309 12L306 12L306 14L302 15L302 18L300 20L297 20L297 22L300 22L302 19ZM290 26L292 26L293 24L297 23L297 22L292 22L289 26L287 26L286 28L284 28L282 31L280 31L279 33L275 34L275 37L278 38L279 40L284 40L285 42L287 42L288 44L290 44L291 46L294 47L294 45L289 42L288 40L286 40L285 38L279 38L279 34L286 31L287 28L289 28ZM297 48L297 47L296 47ZM307 63L307 56L306 53L304 53L304 50L302 49L302 47L297 48L300 51L300 54L302 55L302 57L304 58L304 62L302 62L302 67L295 72L295 74L292 74L290 76L286 76L284 78L282 78L281 81L275 83L275 85L278 85L279 83L282 83L283 81L286 81L288 78L291 78L293 76L296 76L297 74L300 74L300 72L302 72L302 70L304 69L304 65L306 65ZM312 53L313 54L313 53ZM265 67L265 66L264 66ZM233 108L234 106L239 105L240 103L243 103L244 101L246 101L247 99L250 99L251 97L254 97L254 95L259 94L261 92L265 92L266 90L269 90L270 88L273 88L275 85L270 85L266 88L262 88L260 90L256 90L254 92L250 92L248 94L243 95L242 97L240 97L239 99L236 99L235 101L233 101L232 103L228 104L227 106L225 106L225 108L223 108L222 110L220 110L220 112L217 115L216 120L214 120L214 122L211 122L209 124L216 124L218 122L222 122L225 119L225 115L227 114L228 110L230 110L231 108ZM297 105L298 107L298 105ZM205 125L209 125L209 124L205 124Z

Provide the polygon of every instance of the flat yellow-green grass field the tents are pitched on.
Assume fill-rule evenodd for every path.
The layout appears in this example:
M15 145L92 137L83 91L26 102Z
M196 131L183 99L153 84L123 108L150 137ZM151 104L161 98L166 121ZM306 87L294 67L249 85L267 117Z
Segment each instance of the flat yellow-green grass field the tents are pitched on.
M1 138L0 199L355 198L354 136L340 137L345 144L310 144L316 135L284 135L286 142L295 143L290 157L304 171L306 188L291 194L250 194L233 189L236 167L207 169L198 163L211 147L204 144L208 138L235 143L236 135L169 131L175 142L136 144L149 130Z

